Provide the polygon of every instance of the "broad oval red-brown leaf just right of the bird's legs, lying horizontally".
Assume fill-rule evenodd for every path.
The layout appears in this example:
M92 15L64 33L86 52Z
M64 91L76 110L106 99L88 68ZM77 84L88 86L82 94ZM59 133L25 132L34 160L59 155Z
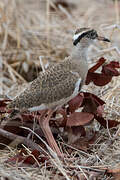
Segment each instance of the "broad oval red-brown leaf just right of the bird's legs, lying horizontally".
M86 112L74 112L68 117L67 120L67 126L80 126L88 124L90 121L92 121L94 118L94 115L91 113Z

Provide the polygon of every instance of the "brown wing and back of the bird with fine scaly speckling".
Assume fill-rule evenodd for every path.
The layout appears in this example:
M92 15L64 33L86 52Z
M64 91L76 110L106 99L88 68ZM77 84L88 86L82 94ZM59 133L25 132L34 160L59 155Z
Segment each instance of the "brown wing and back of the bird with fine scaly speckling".
M78 79L77 73L72 73L61 63L45 73L40 73L39 77L15 98L11 107L26 109L65 99L73 94Z

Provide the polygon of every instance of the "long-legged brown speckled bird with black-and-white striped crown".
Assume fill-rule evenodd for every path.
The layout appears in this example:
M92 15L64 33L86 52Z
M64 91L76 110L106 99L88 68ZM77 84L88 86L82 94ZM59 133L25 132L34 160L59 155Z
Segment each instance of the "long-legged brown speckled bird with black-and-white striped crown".
M77 28L70 55L48 67L45 72L40 72L38 77L7 105L8 109L43 112L39 125L49 146L60 157L63 153L53 137L49 120L53 112L77 96L85 84L88 72L87 50L95 40L110 42L109 39L99 36L95 29Z

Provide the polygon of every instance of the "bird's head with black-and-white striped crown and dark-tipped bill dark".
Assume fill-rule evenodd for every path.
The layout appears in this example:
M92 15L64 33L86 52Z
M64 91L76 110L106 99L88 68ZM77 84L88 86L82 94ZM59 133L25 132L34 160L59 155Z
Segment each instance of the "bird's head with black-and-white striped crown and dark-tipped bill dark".
M99 36L97 31L90 28L79 28L75 31L73 36L73 45L82 45L88 47L93 44L95 40L110 42L109 39Z

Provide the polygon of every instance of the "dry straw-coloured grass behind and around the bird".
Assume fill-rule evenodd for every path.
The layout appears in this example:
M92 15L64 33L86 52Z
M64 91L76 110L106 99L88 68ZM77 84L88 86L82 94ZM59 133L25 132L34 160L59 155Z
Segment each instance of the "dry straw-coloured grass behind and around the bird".
M69 1L72 2L72 1ZM97 44L88 55L89 65L104 56L109 60L120 59L120 22L118 1L111 0L75 0L74 8L60 6L50 12L52 0L0 0L0 94L16 95L16 84L32 81L41 70L39 56L43 62L54 63L69 55L72 48L72 34L76 27L89 26L96 28L112 41L108 44ZM120 77L114 78L105 87L89 85L84 90L99 95L106 101L107 119L120 121ZM20 91L20 89L18 89ZM63 146L66 146L65 144ZM49 171L46 164L39 168L15 167L4 160L13 156L16 149L7 148L0 151L0 177L8 179L74 179L69 175L80 174L88 179L84 172L88 168L116 167L120 165L120 130L99 130L99 139L91 145L91 152L74 151L78 158L74 163L51 159ZM71 171L71 169L73 169ZM76 170L77 169L77 170ZM60 175L61 174L61 175ZM105 177L100 177L105 179ZM107 177L106 177L107 179Z

